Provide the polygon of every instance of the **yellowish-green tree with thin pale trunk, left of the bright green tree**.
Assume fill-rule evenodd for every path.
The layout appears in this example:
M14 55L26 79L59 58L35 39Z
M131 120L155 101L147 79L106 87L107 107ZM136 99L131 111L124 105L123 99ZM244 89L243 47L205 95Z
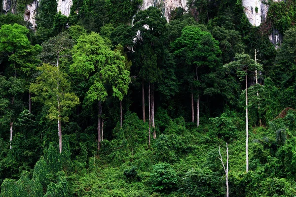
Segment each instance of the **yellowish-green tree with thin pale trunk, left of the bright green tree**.
M36 83L30 86L30 91L35 95L32 100L43 103L48 109L46 118L58 122L59 150L62 153L61 123L69 121L71 109L79 103L79 99L71 92L67 74L58 66L43 64L37 69L40 74Z

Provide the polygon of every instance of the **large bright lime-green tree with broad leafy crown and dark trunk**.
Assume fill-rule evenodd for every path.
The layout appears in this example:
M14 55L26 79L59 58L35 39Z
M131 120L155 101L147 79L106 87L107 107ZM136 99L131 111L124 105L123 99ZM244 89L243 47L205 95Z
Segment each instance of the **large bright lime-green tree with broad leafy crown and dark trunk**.
M98 150L102 140L102 102L108 97L106 85L112 87L113 96L123 99L129 83L129 71L124 69L124 57L111 51L98 33L90 33L77 40L73 48L72 71L88 80L89 89L85 99L98 101ZM86 102L87 102L86 101Z

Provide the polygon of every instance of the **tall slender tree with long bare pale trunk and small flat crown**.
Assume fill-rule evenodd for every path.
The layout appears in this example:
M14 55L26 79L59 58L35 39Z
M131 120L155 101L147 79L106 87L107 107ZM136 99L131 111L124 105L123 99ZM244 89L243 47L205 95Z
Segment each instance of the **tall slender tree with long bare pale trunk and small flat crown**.
M227 69L235 69L236 75L242 81L245 77L246 79L246 171L249 171L249 154L248 154L248 141L249 141L249 131L248 131L248 72L258 72L262 71L262 65L252 60L248 54L235 54L235 60L223 67Z

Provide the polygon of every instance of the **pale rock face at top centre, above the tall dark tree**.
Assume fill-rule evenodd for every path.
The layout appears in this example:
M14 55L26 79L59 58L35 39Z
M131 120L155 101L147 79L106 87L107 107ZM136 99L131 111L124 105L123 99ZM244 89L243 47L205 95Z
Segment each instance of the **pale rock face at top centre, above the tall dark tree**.
M182 7L185 9L185 11L188 10L186 0L143 0L143 4L140 9L145 10L150 6L160 7L164 12L164 16L168 22L171 18L172 10L178 7Z

